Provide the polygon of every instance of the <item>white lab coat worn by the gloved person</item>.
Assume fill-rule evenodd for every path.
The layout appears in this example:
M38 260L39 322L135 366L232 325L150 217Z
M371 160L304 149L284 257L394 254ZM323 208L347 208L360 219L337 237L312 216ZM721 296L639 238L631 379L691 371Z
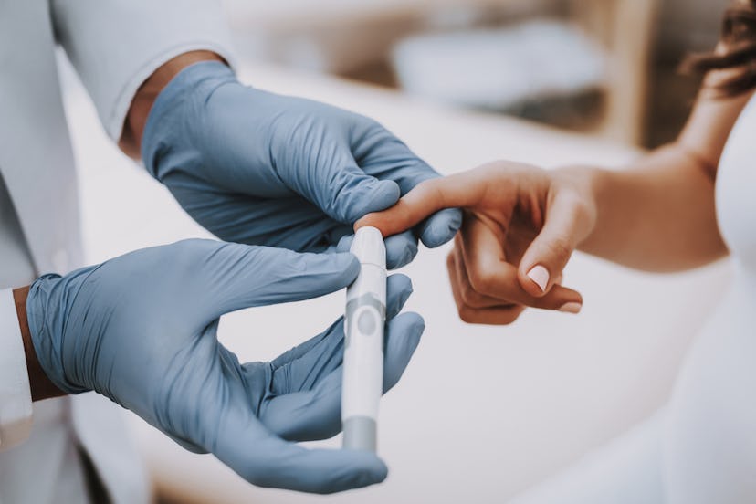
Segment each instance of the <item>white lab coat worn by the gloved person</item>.
M135 504L148 494L117 406L96 394L44 401L34 405L31 429L26 359L9 288L32 280L26 271L64 274L82 266L56 44L116 140L136 90L156 68L193 49L230 61L230 42L215 0L0 0L0 183L7 189L0 191L0 239L23 242L0 247L0 273L9 273L0 278L14 283L0 285L0 504L85 502L79 446L111 500Z

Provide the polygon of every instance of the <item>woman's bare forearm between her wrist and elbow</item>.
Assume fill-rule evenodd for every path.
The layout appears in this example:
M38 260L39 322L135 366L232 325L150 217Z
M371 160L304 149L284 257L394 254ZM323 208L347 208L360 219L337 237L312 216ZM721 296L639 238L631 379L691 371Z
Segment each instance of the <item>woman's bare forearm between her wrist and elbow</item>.
M623 171L567 168L596 205L580 249L631 268L696 268L727 254L714 205L715 170L681 143Z

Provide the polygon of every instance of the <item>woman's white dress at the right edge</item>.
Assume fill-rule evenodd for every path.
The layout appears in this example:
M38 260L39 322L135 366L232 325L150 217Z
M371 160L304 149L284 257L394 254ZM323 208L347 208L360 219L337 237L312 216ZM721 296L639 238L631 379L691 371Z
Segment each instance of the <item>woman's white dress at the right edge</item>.
M734 275L665 408L513 504L756 503L756 95L719 161Z

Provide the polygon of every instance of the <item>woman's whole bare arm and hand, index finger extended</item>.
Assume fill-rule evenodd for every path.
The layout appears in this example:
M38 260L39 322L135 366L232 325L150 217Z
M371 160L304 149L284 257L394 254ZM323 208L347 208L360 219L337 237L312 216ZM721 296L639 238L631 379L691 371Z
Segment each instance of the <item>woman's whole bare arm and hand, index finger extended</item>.
M710 74L709 86L721 75ZM625 170L488 163L419 184L355 226L390 236L441 208L465 207L448 268L457 309L471 322L509 323L526 306L579 311L580 294L561 285L576 248L650 271L707 264L727 254L714 184L730 130L751 98L712 94L701 93L676 142Z

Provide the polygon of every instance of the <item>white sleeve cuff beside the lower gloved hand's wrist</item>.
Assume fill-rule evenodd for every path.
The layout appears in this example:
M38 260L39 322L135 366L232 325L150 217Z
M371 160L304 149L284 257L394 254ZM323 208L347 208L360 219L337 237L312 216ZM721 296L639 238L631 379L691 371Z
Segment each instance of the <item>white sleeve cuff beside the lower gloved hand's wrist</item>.
M13 290L0 290L0 451L26 440L31 430L31 390Z

